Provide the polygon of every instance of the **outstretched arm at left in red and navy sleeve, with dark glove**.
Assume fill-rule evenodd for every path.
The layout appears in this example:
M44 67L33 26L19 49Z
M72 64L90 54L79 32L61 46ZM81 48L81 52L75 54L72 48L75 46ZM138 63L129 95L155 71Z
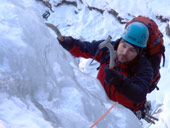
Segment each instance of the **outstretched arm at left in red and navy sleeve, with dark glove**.
M68 50L75 57L93 58L98 49L98 45L103 40L87 42L87 41L80 41L69 36L69 37L65 37L64 41L60 41L60 40L58 41L63 48ZM106 50L106 48L100 50L97 57L95 58L96 61L100 61L100 58L104 50Z

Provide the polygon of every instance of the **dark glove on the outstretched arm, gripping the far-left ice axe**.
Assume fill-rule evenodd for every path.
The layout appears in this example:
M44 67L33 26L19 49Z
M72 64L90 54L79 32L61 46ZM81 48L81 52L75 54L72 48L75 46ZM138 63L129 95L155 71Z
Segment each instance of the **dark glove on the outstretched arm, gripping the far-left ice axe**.
M71 36L64 36L63 38L64 38L64 40L59 40L57 38L58 42L62 45L63 48L65 48L66 50L69 51L74 45L73 38Z

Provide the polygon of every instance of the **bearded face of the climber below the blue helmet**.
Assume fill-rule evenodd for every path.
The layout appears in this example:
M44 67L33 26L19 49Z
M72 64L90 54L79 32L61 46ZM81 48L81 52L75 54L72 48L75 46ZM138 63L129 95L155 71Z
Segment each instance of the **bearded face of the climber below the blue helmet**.
M117 57L120 63L128 63L137 56L137 52L133 45L121 40L117 49Z

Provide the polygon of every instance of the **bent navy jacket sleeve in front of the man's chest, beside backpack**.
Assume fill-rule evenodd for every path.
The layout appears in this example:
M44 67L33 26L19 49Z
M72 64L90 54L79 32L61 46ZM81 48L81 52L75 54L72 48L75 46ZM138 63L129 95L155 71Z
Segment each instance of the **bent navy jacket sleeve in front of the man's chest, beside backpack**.
M116 84L118 91L134 103L140 103L146 98L153 78L152 66L146 58L138 64L134 76L121 75L121 83Z

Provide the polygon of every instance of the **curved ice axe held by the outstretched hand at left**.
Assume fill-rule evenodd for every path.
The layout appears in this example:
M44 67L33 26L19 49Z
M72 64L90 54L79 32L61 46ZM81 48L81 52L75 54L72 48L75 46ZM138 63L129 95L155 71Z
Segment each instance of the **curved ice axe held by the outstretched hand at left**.
M59 29L57 28L57 26L51 24L51 23L45 23L49 28L51 28L56 34L57 34L57 38L61 41L64 40L64 36L61 35Z

